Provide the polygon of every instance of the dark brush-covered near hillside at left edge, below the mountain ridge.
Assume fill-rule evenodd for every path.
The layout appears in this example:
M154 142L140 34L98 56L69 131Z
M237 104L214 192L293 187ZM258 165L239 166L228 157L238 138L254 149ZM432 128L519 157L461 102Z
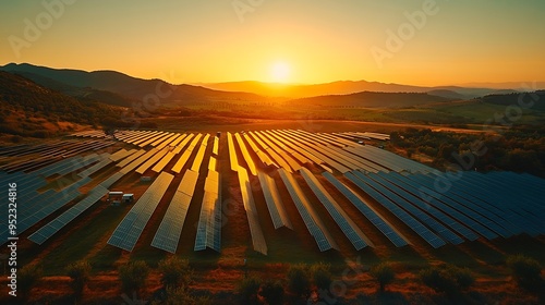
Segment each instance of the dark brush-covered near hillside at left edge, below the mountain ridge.
M0 71L0 133L41 135L60 122L100 124L119 118L122 108L81 100Z

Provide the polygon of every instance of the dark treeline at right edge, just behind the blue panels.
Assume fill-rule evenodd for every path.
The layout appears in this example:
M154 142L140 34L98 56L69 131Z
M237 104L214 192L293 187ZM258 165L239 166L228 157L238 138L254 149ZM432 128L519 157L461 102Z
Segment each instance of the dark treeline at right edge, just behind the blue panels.
M475 162L467 170L507 170L545 178L545 126L516 126L479 135L408 129L390 138L390 145L404 149L408 157L415 152L432 157L435 168L457 163L456 155L473 154Z

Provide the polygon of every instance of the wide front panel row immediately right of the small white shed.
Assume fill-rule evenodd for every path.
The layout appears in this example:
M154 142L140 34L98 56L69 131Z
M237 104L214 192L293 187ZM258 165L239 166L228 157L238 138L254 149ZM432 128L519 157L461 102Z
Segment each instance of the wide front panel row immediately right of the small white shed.
M132 252L144 231L152 213L167 192L170 182L174 179L170 173L161 172L149 188L134 204L129 213L119 223L108 244Z

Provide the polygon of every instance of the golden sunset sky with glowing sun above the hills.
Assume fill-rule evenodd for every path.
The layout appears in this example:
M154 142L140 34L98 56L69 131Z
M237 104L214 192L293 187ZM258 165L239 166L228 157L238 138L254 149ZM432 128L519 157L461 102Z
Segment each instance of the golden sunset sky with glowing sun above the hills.
M543 0L0 0L0 64L171 83L545 81Z

